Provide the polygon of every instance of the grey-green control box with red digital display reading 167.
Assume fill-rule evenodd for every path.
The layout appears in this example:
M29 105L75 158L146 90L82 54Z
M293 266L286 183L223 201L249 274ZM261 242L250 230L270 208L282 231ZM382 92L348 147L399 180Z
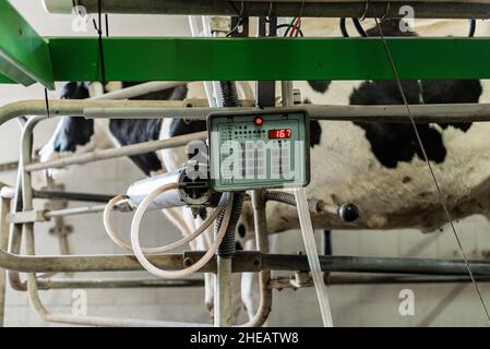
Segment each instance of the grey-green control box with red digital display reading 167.
M304 186L310 181L304 110L216 112L207 117L215 191Z

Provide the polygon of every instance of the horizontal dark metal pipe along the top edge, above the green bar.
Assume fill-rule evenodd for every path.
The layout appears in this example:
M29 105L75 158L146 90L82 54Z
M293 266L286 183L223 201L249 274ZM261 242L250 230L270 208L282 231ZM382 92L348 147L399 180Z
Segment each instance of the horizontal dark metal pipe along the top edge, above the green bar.
M53 13L67 13L71 3L67 0L67 7L56 9L49 5L52 0L45 0L46 7ZM364 1L230 1L235 5L220 0L105 0L101 10L105 13L140 13L140 14L182 14L182 15L237 15L242 11L244 16L296 16L301 13L303 17L401 17L399 5L396 0L370 1L366 8ZM98 12L97 0L79 0L77 3L87 9L88 13ZM243 10L241 10L243 3ZM273 5L271 7L271 3ZM405 5L414 8L419 19L487 19L490 16L490 5L480 1L408 1ZM272 13L271 13L272 9Z

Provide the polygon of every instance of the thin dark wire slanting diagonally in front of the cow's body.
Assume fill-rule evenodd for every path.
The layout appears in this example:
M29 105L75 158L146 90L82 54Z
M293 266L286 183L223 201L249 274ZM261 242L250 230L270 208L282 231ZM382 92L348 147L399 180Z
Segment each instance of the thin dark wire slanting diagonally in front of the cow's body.
M432 165L430 164L429 157L427 156L422 139L421 139L420 133L419 133L419 131L417 129L417 124L415 122L414 115L411 113L410 106L408 105L408 100L407 100L407 97L405 95L405 91L403 88L402 81L401 81L399 75L398 75L398 71L396 70L395 62L394 62L393 57L392 57L392 55L390 52L390 48L387 46L387 43L386 43L386 40L384 38L383 31L381 28L380 23L378 22L378 19L374 17L374 21L377 23L378 29L380 31L381 40L383 41L383 46L384 46L384 49L386 51L386 56L387 56L387 59L390 61L391 68L393 70L393 74L395 75L396 84L398 85L398 89L399 89L399 93L402 95L402 99L403 99L403 101L405 104L405 108L407 109L408 117L410 118L411 127L414 128L415 135L417 137L418 143L419 143L420 149L422 151L423 159L426 160L427 167L429 168L429 171L430 171L430 176L432 177L432 180L433 180L433 182L435 184L435 189L437 189L437 192L438 192L439 201L441 203L442 208L444 209L444 214L446 216L447 222L451 225L451 229L453 230L454 238L455 238L457 246L459 249L459 253L463 255L463 258L464 258L465 265L466 265L466 269L468 270L469 277L471 278L471 282L475 286L475 289L476 289L476 291L478 293L478 298L480 299L481 305L483 306L483 311L485 311L485 314L487 316L487 320L490 323L490 314L489 314L489 312L487 310L487 305L485 304L483 297L481 296L481 292L480 292L480 288L478 287L478 284L476 282L475 277L473 275L473 272L471 272L471 268L469 266L468 258L466 257L465 250L463 249L463 244L461 242L459 236L457 234L456 228L454 227L453 217L451 216L451 213L447 209L447 206L445 205L444 198L442 196L441 189L440 189L439 183L438 183L438 179L435 178L434 171L432 169Z

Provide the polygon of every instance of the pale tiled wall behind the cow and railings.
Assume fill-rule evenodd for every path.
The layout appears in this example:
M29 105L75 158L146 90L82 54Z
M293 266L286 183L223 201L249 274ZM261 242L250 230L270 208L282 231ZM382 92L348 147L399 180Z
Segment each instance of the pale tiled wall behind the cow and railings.
M11 0L33 26L44 36L72 36L71 19L63 15L47 15L39 1ZM187 20L181 16L133 16L111 15L111 35L188 35ZM91 32L89 35L94 35ZM0 85L0 105L10 101L43 98L43 87ZM55 98L56 94L50 94ZM52 132L53 121L43 123L36 132L36 146L40 146ZM0 130L0 163L19 158L19 127L11 121ZM103 165L103 166L100 166ZM83 167L73 167L63 173L67 190L119 193L142 177L127 159L105 161ZM14 183L13 173L0 173L0 181ZM38 203L37 205L41 205ZM121 231L128 231L129 217L121 215L118 221ZM73 253L121 253L106 237L100 216L69 219L74 227L70 236ZM36 228L38 253L58 253L57 240L48 233L50 224ZM489 256L489 224L481 217L457 222L463 243L473 258ZM165 227L165 231L162 231ZM159 214L150 214L144 224L143 240L147 244L165 243L178 238L174 229ZM152 236L152 232L160 233ZM454 238L449 229L432 234L414 230L403 231L335 231L334 253L338 255L373 256L427 256L458 257ZM283 233L275 251L296 253L302 250L300 233ZM144 276L144 273L131 273ZM79 275L95 277L100 274ZM119 275L118 275L119 276ZM121 275L122 276L122 275ZM416 315L398 314L398 293L410 288L416 298ZM481 286L483 297L490 304L490 287ZM163 290L89 290L88 314L105 316L132 316L155 320L204 322L207 314L203 305L201 289ZM336 326L482 326L483 314L478 298L470 285L433 286L336 286L330 288L333 317ZM43 292L46 305L55 312L71 312L71 291ZM244 320L243 316L241 318ZM48 326L28 305L26 294L8 289L7 326ZM316 326L320 313L312 289L274 293L271 320L273 326Z

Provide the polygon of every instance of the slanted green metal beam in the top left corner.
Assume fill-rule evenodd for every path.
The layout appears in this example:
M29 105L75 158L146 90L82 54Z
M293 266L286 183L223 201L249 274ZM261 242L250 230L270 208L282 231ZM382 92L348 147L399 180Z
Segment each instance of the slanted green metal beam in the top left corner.
M7 0L0 0L0 82L55 88L49 48Z

